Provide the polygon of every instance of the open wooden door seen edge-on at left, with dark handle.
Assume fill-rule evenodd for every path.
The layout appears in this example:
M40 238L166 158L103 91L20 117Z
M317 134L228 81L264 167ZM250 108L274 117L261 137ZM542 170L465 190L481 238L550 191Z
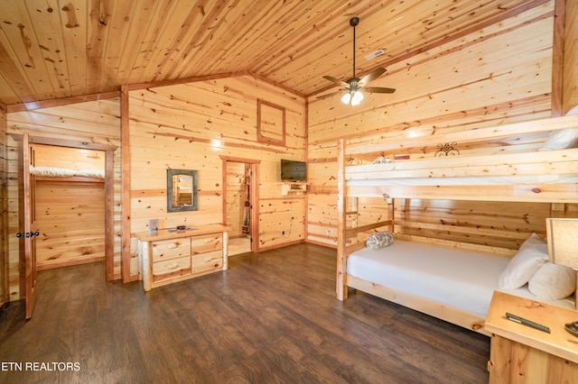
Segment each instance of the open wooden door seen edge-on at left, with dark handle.
M33 316L35 288L36 288L36 228L33 212L33 175L30 174L30 143L28 134L23 134L22 146L20 147L20 228L23 233L17 233L20 238L21 254L21 289L24 290L26 301L26 318Z

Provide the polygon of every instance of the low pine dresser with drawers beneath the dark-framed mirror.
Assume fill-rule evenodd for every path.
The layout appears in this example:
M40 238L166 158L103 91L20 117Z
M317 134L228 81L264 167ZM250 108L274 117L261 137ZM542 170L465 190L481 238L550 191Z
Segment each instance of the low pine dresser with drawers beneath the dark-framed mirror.
M160 230L154 236L136 234L145 291L227 270L230 228L222 224L194 228L179 232Z

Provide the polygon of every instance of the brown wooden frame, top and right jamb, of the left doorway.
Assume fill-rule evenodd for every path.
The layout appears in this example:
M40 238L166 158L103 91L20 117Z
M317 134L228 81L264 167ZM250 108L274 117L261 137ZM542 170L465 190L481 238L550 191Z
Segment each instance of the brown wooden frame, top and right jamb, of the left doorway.
M15 141L22 141L23 135L13 134ZM74 142L42 136L29 136L29 144L44 144L55 147L79 148L105 152L105 275L107 281L115 279L115 206L114 206L114 153L117 146L94 142ZM22 215L22 213L21 213ZM121 263L122 265L122 263ZM121 271L122 274L122 271ZM21 276L22 279L22 276Z

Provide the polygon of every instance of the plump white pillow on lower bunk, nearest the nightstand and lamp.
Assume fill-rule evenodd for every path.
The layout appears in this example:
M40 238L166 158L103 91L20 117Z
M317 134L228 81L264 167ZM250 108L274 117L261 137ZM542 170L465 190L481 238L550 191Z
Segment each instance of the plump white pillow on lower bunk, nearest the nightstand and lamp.
M576 271L546 262L528 281L527 289L539 298L559 300L576 290Z

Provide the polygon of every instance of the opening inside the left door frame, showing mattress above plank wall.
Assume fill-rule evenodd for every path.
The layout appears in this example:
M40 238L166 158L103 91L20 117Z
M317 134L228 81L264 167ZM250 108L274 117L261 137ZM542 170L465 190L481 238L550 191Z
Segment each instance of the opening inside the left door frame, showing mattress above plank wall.
M36 269L104 261L106 152L31 144Z

